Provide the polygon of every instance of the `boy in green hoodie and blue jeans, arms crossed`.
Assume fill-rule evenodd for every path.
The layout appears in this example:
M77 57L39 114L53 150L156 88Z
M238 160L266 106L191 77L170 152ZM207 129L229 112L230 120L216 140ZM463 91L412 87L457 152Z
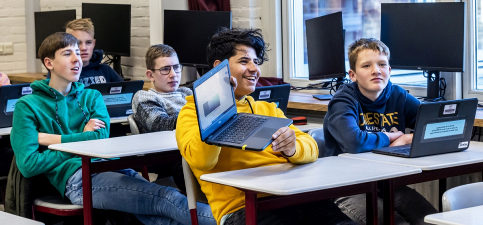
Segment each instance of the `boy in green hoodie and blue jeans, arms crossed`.
M52 76L33 82L34 92L15 105L11 142L16 162L24 176L45 174L63 196L82 204L81 157L47 146L107 138L109 115L100 92L77 82L82 70L77 38L54 33L42 42L39 57ZM132 169L93 174L92 195L94 208L130 212L145 224L191 222L184 195ZM215 223L206 204L198 205L198 219Z

